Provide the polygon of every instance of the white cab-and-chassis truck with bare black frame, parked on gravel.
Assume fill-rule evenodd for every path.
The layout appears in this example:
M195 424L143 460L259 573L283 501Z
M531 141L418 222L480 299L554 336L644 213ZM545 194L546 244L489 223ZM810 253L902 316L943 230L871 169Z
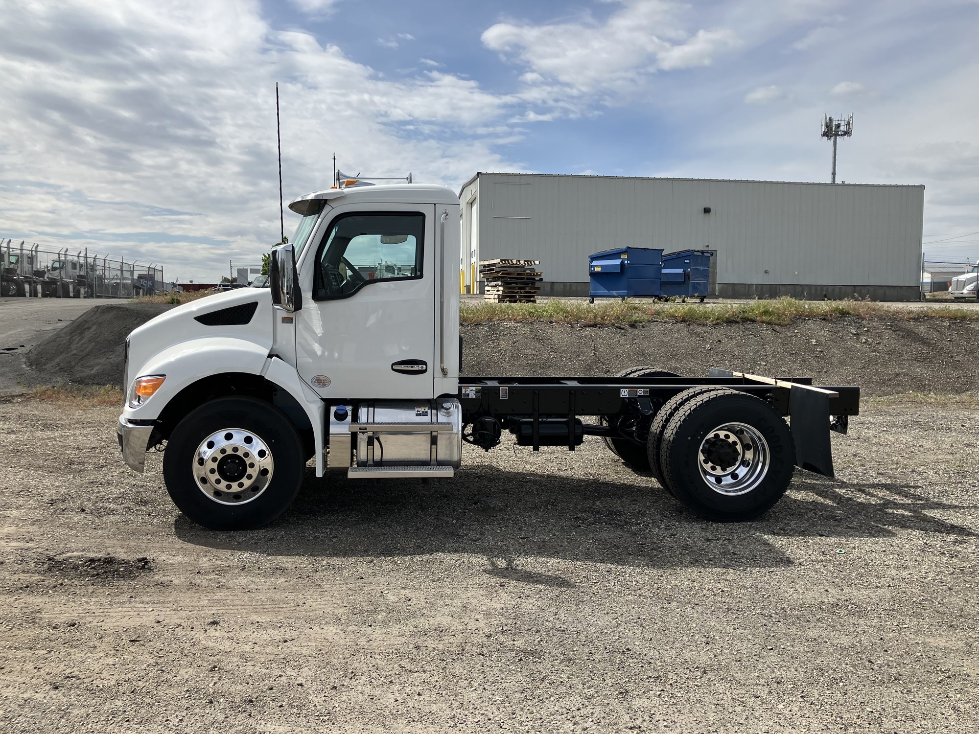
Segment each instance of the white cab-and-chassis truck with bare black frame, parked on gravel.
M202 526L271 522L310 459L317 477L449 478L463 442L489 450L504 431L534 450L601 436L716 521L766 512L795 466L833 474L829 432L846 433L859 388L649 367L460 377L453 192L354 184L289 206L303 218L271 288L186 303L126 339L123 459L142 472L164 447L170 497Z

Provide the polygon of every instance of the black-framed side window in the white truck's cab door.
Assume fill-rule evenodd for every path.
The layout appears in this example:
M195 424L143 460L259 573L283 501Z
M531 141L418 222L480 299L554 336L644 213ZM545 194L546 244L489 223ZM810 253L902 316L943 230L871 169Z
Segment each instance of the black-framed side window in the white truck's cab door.
M316 253L313 299L350 298L373 283L419 279L424 251L421 212L342 214Z

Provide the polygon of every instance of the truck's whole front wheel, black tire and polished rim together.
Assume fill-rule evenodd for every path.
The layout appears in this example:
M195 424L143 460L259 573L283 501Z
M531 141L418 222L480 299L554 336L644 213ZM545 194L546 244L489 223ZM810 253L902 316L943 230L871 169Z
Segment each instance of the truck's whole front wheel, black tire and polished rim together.
M163 480L180 512L212 530L260 528L303 483L303 440L280 410L221 397L188 414L166 443Z

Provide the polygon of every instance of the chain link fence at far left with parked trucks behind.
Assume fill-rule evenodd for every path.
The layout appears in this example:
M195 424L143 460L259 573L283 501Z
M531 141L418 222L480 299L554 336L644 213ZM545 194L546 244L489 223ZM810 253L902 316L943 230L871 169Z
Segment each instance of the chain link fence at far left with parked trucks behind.
M163 265L127 262L108 254L44 250L36 243L0 240L0 296L133 298L169 290Z

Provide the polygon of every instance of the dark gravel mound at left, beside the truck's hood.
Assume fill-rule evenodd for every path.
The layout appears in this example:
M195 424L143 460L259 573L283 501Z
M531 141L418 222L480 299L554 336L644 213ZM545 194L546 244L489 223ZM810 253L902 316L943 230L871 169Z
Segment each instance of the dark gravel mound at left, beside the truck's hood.
M125 338L137 326L172 308L159 303L95 306L37 344L27 355L38 385L115 385L122 387Z

